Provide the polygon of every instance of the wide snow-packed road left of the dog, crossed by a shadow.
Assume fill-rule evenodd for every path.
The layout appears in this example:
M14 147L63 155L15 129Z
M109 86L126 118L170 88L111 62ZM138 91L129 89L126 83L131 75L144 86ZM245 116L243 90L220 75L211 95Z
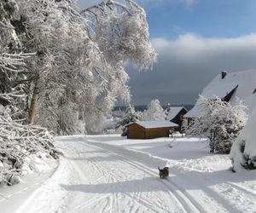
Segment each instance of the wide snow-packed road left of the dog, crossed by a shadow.
M211 212L212 207L202 205L211 202L207 195L202 195L206 202L199 203L172 181L172 176L160 179L147 159L131 157L131 150L125 153L119 147L83 137L58 144L64 153L60 165L16 212ZM237 193L237 199L241 199L238 192L255 196L232 182L223 184L221 190L212 189L225 197ZM218 202L214 207L212 212L227 211Z

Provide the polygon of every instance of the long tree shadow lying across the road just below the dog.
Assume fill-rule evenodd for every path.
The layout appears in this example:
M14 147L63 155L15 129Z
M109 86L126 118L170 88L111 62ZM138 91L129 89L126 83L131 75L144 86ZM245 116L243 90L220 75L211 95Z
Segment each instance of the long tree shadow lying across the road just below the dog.
M217 174L216 174L217 175ZM116 182L108 182L108 183L99 183L99 184L77 184L77 185L64 185L61 184L61 187L63 187L68 192L80 192L80 193L92 193L92 194L108 194L108 193L152 193L152 192L163 192L163 193L169 193L169 192L176 192L181 191L184 193L185 196L187 196L187 190L189 189L199 189L203 190L204 193L207 194L209 198L212 200L216 200L218 204L221 204L226 210L229 210L230 212L238 212L236 209L236 206L233 204L230 204L227 200L224 200L220 196L219 193L216 193L214 190L212 190L208 186L201 186L195 185L191 187L187 187L185 189L181 187L175 187L173 185L172 187L168 187L169 184L172 184L172 176L168 177L167 180L162 180L159 177L145 177L143 179L137 179L137 180L129 180L129 181L116 181ZM165 183L162 184L162 181ZM166 184L167 183L167 184ZM175 193L174 193L175 194ZM199 204L199 200L197 198L191 196L188 199L193 200L192 202ZM203 201L203 199L201 199ZM202 205L202 204L199 204Z

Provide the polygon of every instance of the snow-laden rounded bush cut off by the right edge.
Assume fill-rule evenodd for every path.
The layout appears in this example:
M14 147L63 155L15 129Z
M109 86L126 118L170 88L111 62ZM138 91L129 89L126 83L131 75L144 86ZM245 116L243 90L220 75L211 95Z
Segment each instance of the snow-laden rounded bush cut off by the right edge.
M230 151L233 170L256 169L256 107L241 134L236 138Z

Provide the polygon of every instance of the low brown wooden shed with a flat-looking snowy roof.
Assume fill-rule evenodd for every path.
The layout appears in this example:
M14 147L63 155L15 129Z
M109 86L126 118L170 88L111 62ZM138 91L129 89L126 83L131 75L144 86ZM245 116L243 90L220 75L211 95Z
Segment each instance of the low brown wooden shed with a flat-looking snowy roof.
M128 139L153 139L169 137L170 132L177 127L170 121L140 121L127 124Z

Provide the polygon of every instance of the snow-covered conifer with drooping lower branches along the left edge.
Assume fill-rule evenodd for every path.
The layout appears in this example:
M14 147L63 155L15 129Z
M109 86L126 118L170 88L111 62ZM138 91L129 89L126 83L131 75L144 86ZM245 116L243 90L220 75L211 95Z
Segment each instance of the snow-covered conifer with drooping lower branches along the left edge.
M44 153L57 158L49 131L24 125L26 116L26 62L33 54L21 52L14 0L0 1L0 183L19 182L22 166L32 154Z

